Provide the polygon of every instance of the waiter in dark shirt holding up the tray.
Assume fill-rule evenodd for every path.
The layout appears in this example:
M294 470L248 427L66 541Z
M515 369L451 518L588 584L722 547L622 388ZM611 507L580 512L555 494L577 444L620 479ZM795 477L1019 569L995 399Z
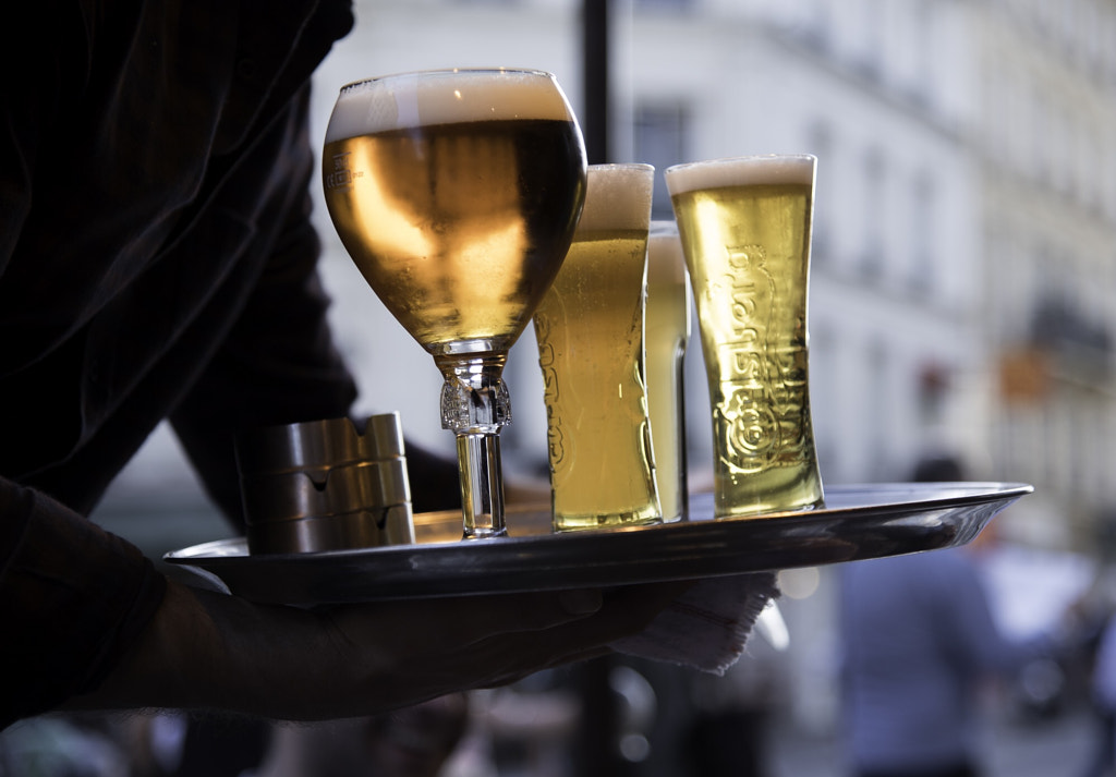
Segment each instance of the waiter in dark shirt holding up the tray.
M169 581L88 520L163 420L240 526L238 431L349 412L307 114L352 25L347 0L0 11L0 728L377 714L607 653L677 593L262 606ZM458 502L455 462L407 457L416 510Z

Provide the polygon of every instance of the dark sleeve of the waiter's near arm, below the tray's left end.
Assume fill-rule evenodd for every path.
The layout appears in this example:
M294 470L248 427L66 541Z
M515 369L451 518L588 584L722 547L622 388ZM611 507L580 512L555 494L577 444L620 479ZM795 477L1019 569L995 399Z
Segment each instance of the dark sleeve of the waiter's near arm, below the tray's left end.
M0 727L95 690L165 589L136 547L0 479Z

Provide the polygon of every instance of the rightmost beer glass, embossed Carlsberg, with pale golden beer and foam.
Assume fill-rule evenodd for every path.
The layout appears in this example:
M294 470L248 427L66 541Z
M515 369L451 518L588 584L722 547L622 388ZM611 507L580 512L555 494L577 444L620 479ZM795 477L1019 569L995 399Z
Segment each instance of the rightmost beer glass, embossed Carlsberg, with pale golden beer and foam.
M666 171L709 378L715 517L822 505L806 320L815 163L749 156Z

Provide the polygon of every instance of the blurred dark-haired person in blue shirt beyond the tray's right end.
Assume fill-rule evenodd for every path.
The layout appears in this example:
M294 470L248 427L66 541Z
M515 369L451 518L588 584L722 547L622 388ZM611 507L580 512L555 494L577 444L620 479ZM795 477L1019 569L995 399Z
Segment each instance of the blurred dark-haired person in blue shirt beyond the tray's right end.
M921 461L920 482L964 480L952 458ZM977 777L979 697L1046 652L1000 631L972 548L841 568L841 716L855 777Z

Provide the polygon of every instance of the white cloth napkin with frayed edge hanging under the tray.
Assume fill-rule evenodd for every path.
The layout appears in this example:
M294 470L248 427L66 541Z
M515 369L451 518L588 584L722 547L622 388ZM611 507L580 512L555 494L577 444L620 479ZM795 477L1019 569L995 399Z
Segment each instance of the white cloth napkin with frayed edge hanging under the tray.
M758 572L699 581L642 633L612 643L619 653L724 674L744 651L776 576Z

